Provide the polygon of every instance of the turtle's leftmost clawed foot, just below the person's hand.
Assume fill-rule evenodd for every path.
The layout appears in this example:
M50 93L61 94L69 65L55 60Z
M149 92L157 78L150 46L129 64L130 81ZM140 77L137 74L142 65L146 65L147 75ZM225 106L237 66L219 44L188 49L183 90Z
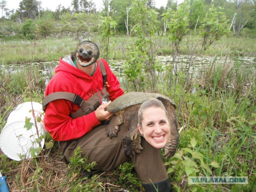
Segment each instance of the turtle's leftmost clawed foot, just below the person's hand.
M123 123L123 119L120 115L114 115L108 126L106 127L108 137L116 137L117 132L119 131L119 126Z

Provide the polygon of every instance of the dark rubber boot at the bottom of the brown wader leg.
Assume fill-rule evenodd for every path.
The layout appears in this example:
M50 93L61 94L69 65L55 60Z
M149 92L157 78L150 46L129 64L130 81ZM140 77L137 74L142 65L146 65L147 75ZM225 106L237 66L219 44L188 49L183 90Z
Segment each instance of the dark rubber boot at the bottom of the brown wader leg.
M142 184L142 186L146 192L172 192L169 178L155 183Z

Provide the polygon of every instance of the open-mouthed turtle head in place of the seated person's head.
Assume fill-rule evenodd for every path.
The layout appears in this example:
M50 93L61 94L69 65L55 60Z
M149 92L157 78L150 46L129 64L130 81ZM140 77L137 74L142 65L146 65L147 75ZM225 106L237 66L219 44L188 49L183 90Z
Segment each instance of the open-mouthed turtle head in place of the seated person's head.
M76 49L76 60L82 67L94 64L100 56L98 46L90 41L81 42Z

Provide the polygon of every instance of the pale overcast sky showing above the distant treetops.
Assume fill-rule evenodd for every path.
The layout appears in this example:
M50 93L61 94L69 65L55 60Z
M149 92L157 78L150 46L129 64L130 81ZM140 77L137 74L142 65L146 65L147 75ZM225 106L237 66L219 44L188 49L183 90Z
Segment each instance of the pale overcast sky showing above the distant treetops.
M7 8L9 10L16 10L17 8L19 8L20 2L22 0L6 0L7 2ZM40 0L42 2L42 8L46 9L50 9L55 11L57 6L59 4L62 4L62 6L64 6L65 8L68 8L69 6L71 6L71 2L72 0ZM93 0L94 4L96 4L96 8L97 10L102 9L102 0ZM160 6L166 6L166 2L167 0L155 0L156 3L156 7L160 7Z

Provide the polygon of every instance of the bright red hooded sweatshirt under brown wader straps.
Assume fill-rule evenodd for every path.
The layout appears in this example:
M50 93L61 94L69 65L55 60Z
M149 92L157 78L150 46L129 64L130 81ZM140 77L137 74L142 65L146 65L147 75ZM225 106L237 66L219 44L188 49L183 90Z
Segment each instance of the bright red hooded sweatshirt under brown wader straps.
M106 68L107 82L110 85L107 87L107 91L110 94L110 100L113 101L124 94L124 91L120 88L120 83L110 70L106 60L101 60ZM45 96L62 91L77 94L87 100L103 89L102 73L98 61L94 74L90 76L60 58L60 64L56 67L55 73L46 87ZM100 124L100 121L96 118L95 111L72 119L69 114L76 112L78 109L78 105L65 99L55 100L47 105L44 124L54 140L66 141L80 138Z

